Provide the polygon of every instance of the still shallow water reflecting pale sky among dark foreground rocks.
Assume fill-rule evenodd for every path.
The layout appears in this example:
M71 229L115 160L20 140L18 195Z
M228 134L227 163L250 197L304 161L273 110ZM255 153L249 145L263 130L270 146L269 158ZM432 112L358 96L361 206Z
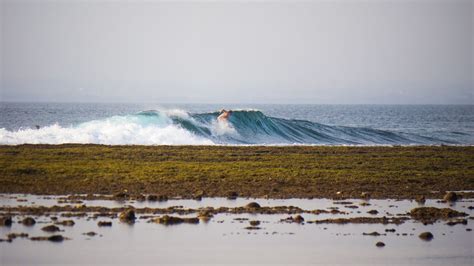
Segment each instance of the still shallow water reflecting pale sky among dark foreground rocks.
M27 202L18 198L27 199ZM370 200L370 206L360 206L362 200L352 201L357 209L334 204L329 199L244 199L227 200L224 198L204 198L196 200L169 200L167 202L117 202L117 201L84 201L88 206L100 205L118 207L134 205L135 207L165 208L181 205L185 208L205 206L243 206L250 201L257 201L262 206L297 206L306 210L339 207L340 210L352 212L347 215L303 214L306 221L336 217L380 217L392 214L403 214L418 203L396 200ZM0 205L43 205L57 204L57 197L47 198L32 195L0 195ZM427 200L425 206L449 207L474 215L468 209L474 203L461 201L449 206ZM378 215L367 214L376 209ZM360 212L360 213L358 213ZM59 215L58 215L59 216ZM139 215L140 216L140 215ZM193 216L193 215L191 215ZM71 240L62 243L36 242L28 239L15 239L12 243L0 243L1 265L38 265L38 264L376 264L376 265L472 265L474 259L474 234L466 231L468 225L447 226L445 222L423 225L412 220L401 225L383 224L296 224L282 223L280 219L289 215L260 214L217 214L208 223L180 224L165 226L147 223L137 219L134 225L119 222L118 219L99 218L88 220L73 218L73 227L60 226L62 235ZM51 224L49 217L35 217L37 224L26 227L16 221L23 216L14 217L11 227L0 227L0 237L11 232L25 232L30 236L49 235L41 227ZM262 222L261 230L246 230L248 221L235 221L234 218L249 218ZM70 219L61 218L60 220ZM112 227L98 227L98 220L111 220ZM362 233L395 228L395 233L386 236L363 236ZM100 234L94 237L82 235L94 231ZM418 238L421 232L430 231L434 239L430 242ZM400 234L397 236L396 234ZM402 236L406 233L406 236ZM377 248L375 243L382 241L384 248Z

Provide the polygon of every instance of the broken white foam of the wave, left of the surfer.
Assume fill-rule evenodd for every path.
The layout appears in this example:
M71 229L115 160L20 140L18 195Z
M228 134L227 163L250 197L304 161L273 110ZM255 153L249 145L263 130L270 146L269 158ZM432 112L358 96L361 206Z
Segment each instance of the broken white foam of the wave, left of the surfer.
M212 145L211 140L166 123L141 123L130 117L95 120L78 126L41 129L0 129L0 144L93 143L107 145Z

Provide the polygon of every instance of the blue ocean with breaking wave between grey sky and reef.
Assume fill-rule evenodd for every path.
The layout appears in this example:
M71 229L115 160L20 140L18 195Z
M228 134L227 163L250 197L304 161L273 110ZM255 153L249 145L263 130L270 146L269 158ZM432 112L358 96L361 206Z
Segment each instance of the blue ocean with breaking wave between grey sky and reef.
M0 103L0 144L26 143L473 145L474 105Z

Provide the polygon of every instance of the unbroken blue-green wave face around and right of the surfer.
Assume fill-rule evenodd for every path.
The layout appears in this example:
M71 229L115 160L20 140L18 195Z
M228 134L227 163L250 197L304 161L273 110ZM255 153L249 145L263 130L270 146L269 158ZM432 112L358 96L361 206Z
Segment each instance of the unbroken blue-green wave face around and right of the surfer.
M233 111L227 122L217 121L218 116L213 112L191 114L192 119L171 118L176 125L219 144L455 144L415 134L269 117L260 111Z

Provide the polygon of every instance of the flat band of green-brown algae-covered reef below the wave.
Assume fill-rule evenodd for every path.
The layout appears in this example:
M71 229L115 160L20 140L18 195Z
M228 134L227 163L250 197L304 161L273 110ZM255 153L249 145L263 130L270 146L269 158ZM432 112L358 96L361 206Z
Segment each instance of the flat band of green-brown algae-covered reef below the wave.
M441 198L448 190L474 190L474 147L0 146L1 193Z

